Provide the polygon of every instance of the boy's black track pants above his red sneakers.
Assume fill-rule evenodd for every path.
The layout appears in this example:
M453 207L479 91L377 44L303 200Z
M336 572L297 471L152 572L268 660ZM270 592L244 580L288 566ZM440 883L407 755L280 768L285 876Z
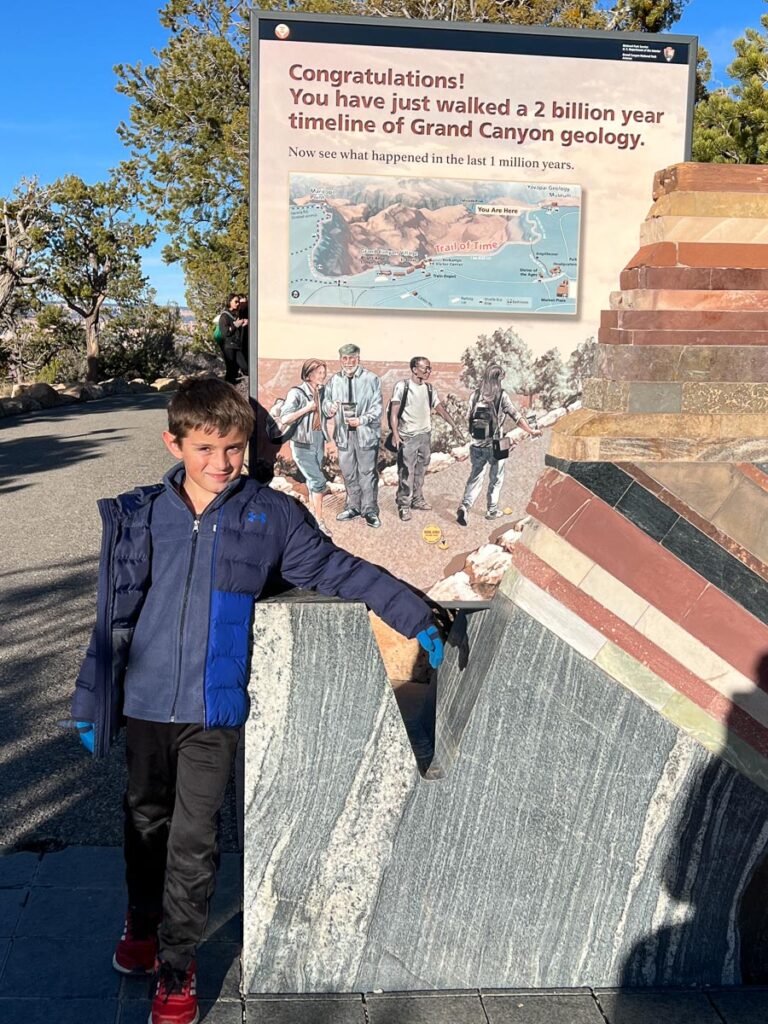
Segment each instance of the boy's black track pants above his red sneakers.
M157 914L159 954L183 969L203 938L218 863L216 828L240 729L142 722L126 729L128 902Z

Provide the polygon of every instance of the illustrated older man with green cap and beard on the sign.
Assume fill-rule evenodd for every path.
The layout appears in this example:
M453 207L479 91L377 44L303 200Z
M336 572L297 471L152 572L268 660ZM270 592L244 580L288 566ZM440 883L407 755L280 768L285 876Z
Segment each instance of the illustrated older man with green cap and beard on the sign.
M346 505L340 522L362 516L369 526L379 519L379 476L376 463L381 437L381 381L360 366L357 345L339 349L341 370L326 385L323 412L335 423L339 468L346 487Z

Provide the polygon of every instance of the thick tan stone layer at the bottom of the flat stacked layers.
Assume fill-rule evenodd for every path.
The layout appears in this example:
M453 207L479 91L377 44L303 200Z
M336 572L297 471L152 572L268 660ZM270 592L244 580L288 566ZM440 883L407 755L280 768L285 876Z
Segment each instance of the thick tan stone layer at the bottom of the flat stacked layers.
M582 409L552 428L549 452L575 462L766 462L768 415Z

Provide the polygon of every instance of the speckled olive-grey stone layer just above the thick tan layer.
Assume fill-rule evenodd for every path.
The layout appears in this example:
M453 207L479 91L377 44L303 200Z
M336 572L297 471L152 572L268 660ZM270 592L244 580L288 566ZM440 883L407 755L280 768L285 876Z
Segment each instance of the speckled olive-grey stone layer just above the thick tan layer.
M768 384L590 378L583 404L611 413L768 413Z

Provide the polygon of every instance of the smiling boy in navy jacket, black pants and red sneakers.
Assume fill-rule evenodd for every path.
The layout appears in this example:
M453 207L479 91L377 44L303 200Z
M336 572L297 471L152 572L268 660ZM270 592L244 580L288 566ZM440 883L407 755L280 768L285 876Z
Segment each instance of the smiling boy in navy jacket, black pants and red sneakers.
M248 715L253 602L275 575L365 600L442 644L429 606L337 548L293 499L241 476L248 401L220 380L182 384L168 407L163 483L99 502L98 608L73 701L103 756L126 722L128 912L113 965L155 971L150 1024L195 1024L195 952L213 894L217 815Z

